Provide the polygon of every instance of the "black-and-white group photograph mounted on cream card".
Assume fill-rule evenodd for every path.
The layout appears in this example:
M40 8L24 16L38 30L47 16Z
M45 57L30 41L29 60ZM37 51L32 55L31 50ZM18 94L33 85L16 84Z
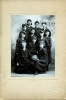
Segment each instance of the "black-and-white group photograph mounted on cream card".
M55 15L11 16L11 76L55 76Z

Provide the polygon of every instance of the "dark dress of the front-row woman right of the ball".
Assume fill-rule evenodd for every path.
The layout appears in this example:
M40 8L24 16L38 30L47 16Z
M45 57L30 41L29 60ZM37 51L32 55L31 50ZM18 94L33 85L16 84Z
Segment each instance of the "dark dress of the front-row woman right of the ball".
M46 71L47 65L48 65L48 55L47 55L47 49L42 48L41 50L38 50L38 61L36 61L36 69L39 72Z

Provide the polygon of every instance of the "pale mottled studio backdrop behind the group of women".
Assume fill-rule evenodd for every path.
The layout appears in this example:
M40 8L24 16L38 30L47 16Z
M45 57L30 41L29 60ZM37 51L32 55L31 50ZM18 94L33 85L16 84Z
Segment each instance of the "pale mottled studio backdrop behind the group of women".
M32 26L35 27L34 22L37 20L40 22L40 27L42 27L42 22L47 22L47 27L51 31L52 47L51 56L52 62L55 62L55 16L54 15L12 15L11 16L11 61L14 59L16 40L18 38L19 32L22 30L22 24L27 23L27 19L32 20Z

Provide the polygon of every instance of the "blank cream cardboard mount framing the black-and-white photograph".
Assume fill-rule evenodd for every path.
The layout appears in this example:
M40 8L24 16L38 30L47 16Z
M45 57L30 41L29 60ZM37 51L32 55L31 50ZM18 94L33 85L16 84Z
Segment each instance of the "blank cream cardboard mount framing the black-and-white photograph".
M2 100L66 99L66 1L0 0ZM55 76L11 77L11 15L55 15Z

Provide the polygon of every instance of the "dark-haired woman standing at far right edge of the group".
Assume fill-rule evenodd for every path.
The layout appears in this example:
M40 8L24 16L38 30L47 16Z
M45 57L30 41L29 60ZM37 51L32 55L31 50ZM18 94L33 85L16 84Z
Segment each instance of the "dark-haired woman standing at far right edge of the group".
M46 46L47 46L47 51L48 51L48 64L51 63L51 32L47 29L44 33L44 37L46 38Z

